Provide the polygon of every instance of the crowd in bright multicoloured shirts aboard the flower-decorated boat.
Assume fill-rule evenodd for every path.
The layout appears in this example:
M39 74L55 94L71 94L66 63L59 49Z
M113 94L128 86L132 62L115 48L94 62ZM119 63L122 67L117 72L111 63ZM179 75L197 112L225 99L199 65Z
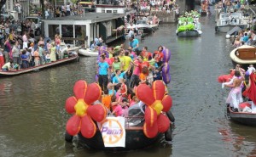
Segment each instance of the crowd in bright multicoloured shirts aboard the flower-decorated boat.
M139 42L131 36L129 48L124 44L115 48L98 47L96 63L96 82L102 88L102 104L117 116L123 116L127 109L139 102L135 89L140 84L151 86L155 80L162 79L162 53L159 46L154 53L147 47L139 50Z

